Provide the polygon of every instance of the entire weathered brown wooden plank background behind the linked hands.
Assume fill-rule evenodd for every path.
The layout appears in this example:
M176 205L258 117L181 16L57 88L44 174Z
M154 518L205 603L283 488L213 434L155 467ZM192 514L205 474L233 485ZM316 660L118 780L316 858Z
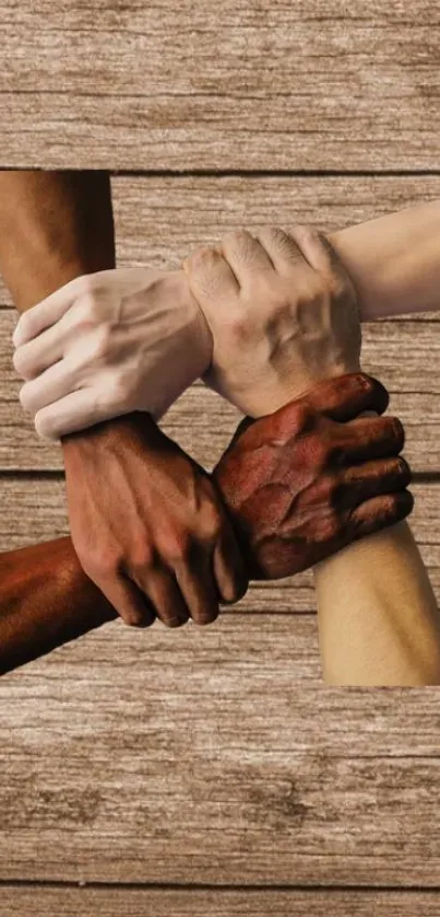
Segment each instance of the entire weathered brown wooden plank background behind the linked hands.
M110 169L120 265L439 197L432 3L7 0L0 26L1 167ZM0 287L2 550L68 531L14 322ZM440 313L364 341L407 429L440 599ZM237 420L195 385L164 428L211 467ZM438 690L320 680L309 573L210 628L114 623L3 676L0 915L440 914Z

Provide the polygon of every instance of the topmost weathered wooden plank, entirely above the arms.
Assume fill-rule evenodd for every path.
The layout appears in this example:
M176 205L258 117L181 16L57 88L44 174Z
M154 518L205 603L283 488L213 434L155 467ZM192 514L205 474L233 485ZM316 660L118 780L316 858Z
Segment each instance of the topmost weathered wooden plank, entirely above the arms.
M427 0L7 0L0 25L2 165L438 169Z

